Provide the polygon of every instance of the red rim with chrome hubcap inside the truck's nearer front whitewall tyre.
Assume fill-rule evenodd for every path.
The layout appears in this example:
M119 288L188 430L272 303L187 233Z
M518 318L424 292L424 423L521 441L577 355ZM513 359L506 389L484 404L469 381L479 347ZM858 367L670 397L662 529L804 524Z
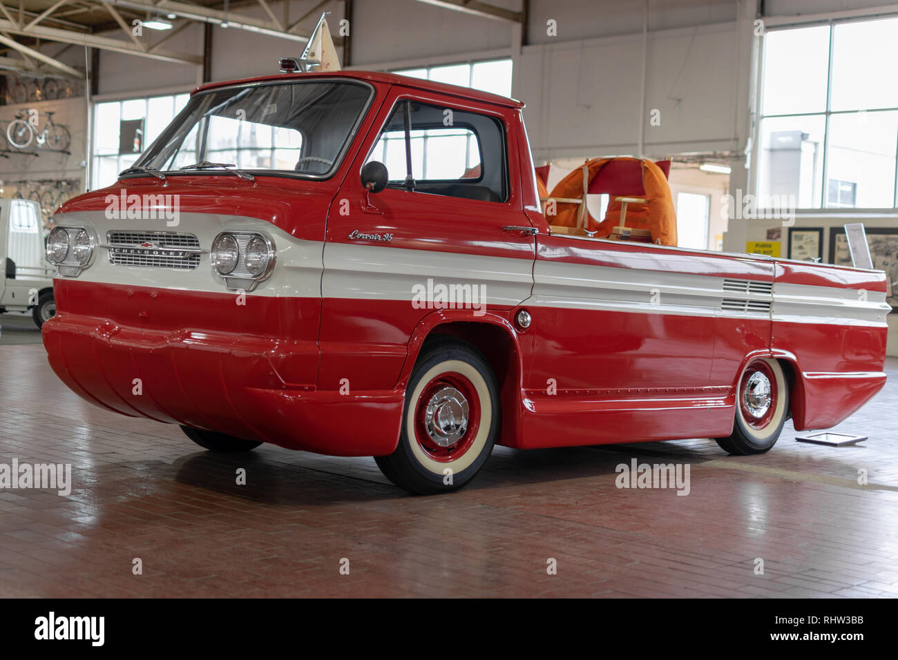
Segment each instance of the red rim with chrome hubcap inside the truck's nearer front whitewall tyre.
M466 414L458 405L462 399L467 404ZM452 462L463 456L477 437L480 397L466 376L439 374L421 390L414 414L415 440L421 449L434 461ZM447 427L459 428L445 433Z

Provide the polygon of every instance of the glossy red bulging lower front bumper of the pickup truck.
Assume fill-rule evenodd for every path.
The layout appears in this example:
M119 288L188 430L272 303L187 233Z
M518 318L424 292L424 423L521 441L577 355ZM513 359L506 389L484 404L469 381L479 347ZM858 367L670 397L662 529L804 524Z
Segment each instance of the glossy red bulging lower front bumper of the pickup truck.
M122 415L339 456L385 455L398 442L403 392L320 392L283 377L285 365L308 359L305 342L136 328L65 310L43 339L69 388Z

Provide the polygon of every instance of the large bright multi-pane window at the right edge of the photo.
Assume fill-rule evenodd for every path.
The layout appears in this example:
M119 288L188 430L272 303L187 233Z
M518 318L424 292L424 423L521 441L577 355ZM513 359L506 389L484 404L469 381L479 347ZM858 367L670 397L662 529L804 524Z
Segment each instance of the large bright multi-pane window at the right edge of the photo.
M898 206L896 68L898 18L766 34L762 205L793 198L798 208Z

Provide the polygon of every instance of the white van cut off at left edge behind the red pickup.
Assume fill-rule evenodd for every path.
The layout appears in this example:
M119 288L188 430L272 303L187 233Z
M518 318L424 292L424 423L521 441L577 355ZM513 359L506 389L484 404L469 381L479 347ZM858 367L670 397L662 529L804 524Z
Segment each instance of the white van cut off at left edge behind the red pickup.
M0 199L0 312L31 312L38 327L56 313L40 205Z

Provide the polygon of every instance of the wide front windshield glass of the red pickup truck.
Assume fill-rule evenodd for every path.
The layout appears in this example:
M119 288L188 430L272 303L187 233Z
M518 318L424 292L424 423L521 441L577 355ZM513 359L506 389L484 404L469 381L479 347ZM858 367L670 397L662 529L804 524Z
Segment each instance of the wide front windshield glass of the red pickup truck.
M135 166L195 172L222 163L325 178L339 166L372 93L366 84L333 80L199 93Z

